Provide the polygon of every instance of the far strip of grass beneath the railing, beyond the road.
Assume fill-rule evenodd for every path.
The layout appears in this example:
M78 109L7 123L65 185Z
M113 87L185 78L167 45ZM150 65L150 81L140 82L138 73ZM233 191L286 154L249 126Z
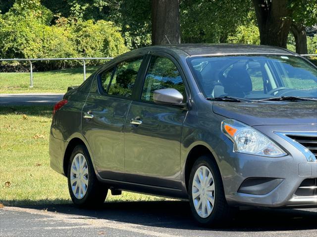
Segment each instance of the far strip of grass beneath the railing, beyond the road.
M87 67L88 78L98 67ZM0 73L0 93L65 93L68 86L83 82L83 68L33 73L33 87L30 88L30 73Z

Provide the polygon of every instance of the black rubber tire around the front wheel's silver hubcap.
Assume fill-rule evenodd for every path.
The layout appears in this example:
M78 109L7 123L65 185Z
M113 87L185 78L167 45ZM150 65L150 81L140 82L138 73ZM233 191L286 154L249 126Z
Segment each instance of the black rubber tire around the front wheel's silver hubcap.
M194 200L192 197L193 181L196 171L202 167L206 166L211 171L214 182L214 204L211 210L211 214L208 217L201 217L196 211ZM223 227L227 225L228 218L231 217L232 209L228 206L227 201L224 196L222 179L218 167L215 161L209 156L201 156L198 158L191 170L189 177L189 201L190 208L193 214L194 219L198 222L199 225L203 227ZM210 202L211 203L211 202Z

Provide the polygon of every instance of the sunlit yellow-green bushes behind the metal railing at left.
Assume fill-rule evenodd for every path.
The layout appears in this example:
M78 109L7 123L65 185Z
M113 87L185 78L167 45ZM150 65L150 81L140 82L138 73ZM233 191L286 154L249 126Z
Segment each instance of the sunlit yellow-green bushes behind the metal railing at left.
M41 5L40 0L17 0L7 13L0 15L0 57L113 57L127 50L119 28L111 22L69 22L59 17L55 25L50 25L52 20L52 11ZM34 65L35 69L58 69L79 66L78 63L48 61ZM14 63L21 64L27 66L23 62ZM1 65L8 68L13 64Z

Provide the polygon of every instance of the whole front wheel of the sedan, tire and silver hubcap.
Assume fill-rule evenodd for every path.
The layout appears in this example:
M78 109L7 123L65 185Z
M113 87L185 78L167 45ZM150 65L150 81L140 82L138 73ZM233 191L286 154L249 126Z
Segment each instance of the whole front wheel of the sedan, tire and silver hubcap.
M205 227L225 225L230 217L220 172L208 156L198 158L189 177L189 200L195 220Z

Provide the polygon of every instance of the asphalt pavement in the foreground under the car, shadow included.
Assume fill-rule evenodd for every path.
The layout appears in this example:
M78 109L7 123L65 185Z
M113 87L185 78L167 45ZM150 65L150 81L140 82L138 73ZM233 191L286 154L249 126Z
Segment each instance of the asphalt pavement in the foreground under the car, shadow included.
M317 237L317 208L240 211L222 229L198 227L185 201L105 203L99 209L0 209L0 236Z

